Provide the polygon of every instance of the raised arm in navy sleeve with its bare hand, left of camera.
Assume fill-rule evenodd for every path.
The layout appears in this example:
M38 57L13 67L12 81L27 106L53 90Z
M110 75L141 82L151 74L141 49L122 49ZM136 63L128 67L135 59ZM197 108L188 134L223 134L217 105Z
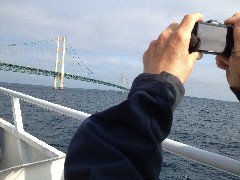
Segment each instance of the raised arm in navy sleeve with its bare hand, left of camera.
M161 143L185 93L183 84L202 57L188 50L194 24L202 20L196 13L172 23L144 53L143 73L133 81L127 100L82 122L68 147L66 180L159 178ZM222 65L222 59L217 63Z

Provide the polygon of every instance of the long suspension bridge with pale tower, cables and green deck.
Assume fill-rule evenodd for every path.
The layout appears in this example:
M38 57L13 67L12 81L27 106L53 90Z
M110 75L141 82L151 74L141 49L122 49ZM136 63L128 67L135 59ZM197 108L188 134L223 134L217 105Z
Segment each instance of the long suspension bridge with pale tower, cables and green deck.
M57 39L52 38L29 43L0 45L0 70L51 76L54 78L55 89L58 80L60 81L59 89L63 89L63 79L65 78L129 91L125 87L125 83L123 83L125 82L125 78L121 78L122 80L119 85L95 78L94 73L77 55L76 50L73 49L71 44L67 40L67 44L66 42L61 44L63 43L63 38L58 36ZM25 52L25 49L27 49L27 52ZM53 70L54 61L55 70ZM65 66L64 62L68 62L68 66ZM73 70L74 68L75 70ZM65 72L82 72L86 76Z

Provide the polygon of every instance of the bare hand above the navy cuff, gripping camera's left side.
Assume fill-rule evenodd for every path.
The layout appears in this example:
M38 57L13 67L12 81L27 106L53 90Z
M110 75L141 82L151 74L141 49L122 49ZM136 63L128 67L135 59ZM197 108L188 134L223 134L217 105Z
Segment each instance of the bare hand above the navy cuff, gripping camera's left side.
M181 24L173 23L152 41L143 55L144 73L159 74L166 71L185 83L201 53L189 54L188 48L194 24L203 19L202 14L186 15Z

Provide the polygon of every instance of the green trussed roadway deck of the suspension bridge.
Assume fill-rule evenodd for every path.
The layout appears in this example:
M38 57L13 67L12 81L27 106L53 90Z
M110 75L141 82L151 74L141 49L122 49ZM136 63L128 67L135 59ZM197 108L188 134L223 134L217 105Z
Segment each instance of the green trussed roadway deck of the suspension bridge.
M55 73L54 71L49 71L49 70L44 70L44 69L37 69L37 68L32 68L32 67L25 67L25 66L19 66L19 65L14 65L14 64L8 64L8 63L3 63L0 62L0 70L3 71L12 71L12 72L20 72L20 73L27 73L27 74L35 74L35 75L42 75L42 76L61 76L60 72ZM102 84L105 86L111 86L115 87L121 90L129 91L128 88L109 83L106 81L101 81L97 79L91 79L83 76L77 76L77 75L72 75L69 73L64 73L64 77L66 79L73 79L73 80L80 80L80 81L86 81L86 82L92 82L92 83L97 83L97 84Z

